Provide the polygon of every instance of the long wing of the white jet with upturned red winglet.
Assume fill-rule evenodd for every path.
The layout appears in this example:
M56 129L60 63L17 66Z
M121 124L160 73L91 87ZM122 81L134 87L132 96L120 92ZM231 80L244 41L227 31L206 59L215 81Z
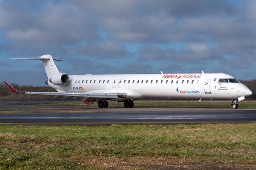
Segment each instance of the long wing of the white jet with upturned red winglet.
M54 95L54 96L72 96L72 97L92 97L92 98L111 98L111 99L117 99L118 94L117 93L70 93L70 92L34 92L34 91L18 91L14 89L11 85L6 83L10 89L12 89L13 92L16 93L25 93L25 94L31 94L31 95Z

